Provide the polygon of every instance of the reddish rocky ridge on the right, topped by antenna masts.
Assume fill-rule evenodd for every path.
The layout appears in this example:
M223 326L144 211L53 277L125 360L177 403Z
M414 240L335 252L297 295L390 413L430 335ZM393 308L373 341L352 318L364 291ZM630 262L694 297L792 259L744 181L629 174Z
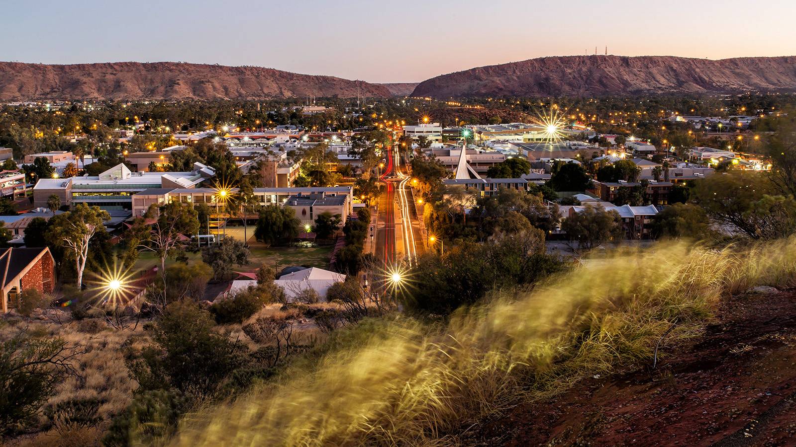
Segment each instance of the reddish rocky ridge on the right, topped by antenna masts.
M796 56L724 60L561 56L471 68L420 83L412 96L625 95L796 91Z

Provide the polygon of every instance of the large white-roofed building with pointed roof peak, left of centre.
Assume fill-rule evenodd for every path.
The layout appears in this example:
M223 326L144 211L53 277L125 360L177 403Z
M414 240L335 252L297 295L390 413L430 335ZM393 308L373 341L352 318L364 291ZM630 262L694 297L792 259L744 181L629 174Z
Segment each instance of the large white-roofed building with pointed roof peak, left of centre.
M185 173L133 173L119 164L96 177L42 178L33 187L33 206L45 208L53 194L62 205L87 203L106 209L132 209L134 196L146 189L193 189L216 171L201 163Z

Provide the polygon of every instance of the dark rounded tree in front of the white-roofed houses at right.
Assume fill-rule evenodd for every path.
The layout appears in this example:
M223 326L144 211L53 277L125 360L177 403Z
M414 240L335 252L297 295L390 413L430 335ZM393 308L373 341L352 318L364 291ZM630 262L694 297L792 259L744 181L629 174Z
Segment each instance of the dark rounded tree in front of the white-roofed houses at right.
M591 250L601 243L622 237L622 218L614 210L606 211L602 206L587 204L582 211L566 217L561 229L571 240L577 240L580 248Z

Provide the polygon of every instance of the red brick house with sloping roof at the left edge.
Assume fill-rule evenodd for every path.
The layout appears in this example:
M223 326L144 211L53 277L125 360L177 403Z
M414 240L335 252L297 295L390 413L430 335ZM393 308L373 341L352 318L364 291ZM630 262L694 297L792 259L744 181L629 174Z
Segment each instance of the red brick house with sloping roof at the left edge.
M55 260L49 248L0 249L0 278L2 278L2 313L19 304L22 290L36 289L53 293Z

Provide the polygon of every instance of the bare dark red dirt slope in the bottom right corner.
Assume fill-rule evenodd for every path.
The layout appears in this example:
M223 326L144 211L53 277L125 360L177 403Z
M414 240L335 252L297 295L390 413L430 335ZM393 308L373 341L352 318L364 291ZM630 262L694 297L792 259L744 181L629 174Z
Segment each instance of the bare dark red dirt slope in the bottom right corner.
M489 422L473 445L796 445L796 291L724 301L656 369L591 378Z

